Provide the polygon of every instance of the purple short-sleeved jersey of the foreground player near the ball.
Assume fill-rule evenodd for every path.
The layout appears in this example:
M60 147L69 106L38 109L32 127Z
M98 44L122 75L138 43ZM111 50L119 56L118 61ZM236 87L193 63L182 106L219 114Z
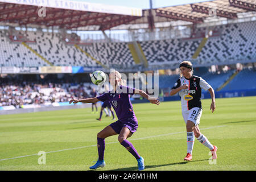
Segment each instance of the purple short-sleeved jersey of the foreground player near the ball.
M104 93L101 96L98 96L97 99L103 102L109 100L119 121L126 122L127 119L133 119L133 121L137 122L129 94L134 94L134 88L120 85L117 92L112 93L109 91L109 93Z

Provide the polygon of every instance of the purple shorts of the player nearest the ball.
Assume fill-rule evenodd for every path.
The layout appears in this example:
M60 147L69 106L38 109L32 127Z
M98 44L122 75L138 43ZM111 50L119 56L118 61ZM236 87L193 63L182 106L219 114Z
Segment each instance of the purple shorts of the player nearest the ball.
M134 119L127 119L126 122L121 122L117 120L114 123L111 123L109 126L115 131L115 133L119 134L123 127L129 128L131 133L134 133L138 129L138 122L134 121Z

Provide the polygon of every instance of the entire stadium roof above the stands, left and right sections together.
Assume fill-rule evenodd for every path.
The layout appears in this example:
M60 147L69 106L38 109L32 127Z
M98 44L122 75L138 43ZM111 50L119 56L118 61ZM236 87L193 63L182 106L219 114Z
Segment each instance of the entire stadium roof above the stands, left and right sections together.
M46 16L38 12L46 7ZM0 23L9 26L59 27L76 30L154 28L154 24L195 24L256 17L254 0L214 0L141 10L68 0L0 0ZM163 25L160 25L163 26ZM156 26L156 27L160 27Z

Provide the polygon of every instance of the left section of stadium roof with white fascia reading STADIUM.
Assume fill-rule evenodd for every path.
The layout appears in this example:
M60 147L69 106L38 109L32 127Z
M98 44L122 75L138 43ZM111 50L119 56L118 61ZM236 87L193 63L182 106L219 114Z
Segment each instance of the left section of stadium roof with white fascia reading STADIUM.
M96 25L99 26L98 30L108 30L119 24L126 24L131 20L141 18L141 16L141 9L123 6L67 0L0 0L0 22L18 26L58 26L72 29Z

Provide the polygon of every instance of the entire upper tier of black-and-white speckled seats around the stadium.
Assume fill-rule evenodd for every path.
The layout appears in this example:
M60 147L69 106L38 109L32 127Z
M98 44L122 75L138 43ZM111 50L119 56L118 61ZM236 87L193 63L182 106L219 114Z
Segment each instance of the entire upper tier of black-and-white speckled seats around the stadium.
M252 60L256 57L256 37L253 35L255 22L245 22L218 26L221 36L209 38L202 48L196 61L200 64L223 63L233 60ZM198 31L203 31L199 28ZM3 66L38 66L48 65L33 52L20 44L7 40L3 31L1 34L1 51ZM46 32L27 32L35 44L29 44L32 49L43 56L49 63L56 66L95 67L96 61L82 53L73 45L67 45L60 34ZM140 42L148 65L171 63L171 61L191 60L200 39L170 39ZM135 65L128 44L122 43L93 43L92 46L81 48L94 59L104 65Z

